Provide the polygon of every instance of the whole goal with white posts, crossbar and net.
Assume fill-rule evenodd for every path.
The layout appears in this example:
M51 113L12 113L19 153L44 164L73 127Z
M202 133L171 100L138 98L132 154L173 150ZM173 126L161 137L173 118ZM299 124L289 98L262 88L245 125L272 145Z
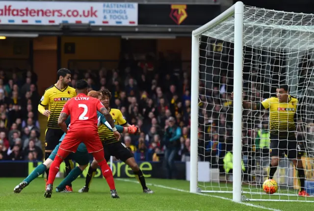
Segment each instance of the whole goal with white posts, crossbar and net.
M304 152L307 191L314 195L313 68L312 14L237 2L193 31L191 192L233 193L234 201L314 202L298 196L297 173L285 155L273 178L278 191L264 193L270 164L269 112L242 109L242 95L244 101L262 102L276 96L279 84L289 85L289 94L299 101L296 135Z

